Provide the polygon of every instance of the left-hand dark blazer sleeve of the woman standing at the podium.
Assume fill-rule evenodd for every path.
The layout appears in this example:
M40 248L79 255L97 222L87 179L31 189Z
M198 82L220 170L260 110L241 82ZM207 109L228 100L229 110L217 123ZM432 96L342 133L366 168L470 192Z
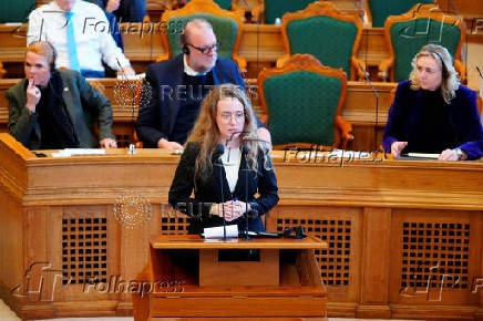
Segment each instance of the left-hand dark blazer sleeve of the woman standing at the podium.
M195 185L195 162L198 153L198 144L188 143L186 145L168 194L169 205L174 209L196 218L209 215L210 210L210 204L191 197Z

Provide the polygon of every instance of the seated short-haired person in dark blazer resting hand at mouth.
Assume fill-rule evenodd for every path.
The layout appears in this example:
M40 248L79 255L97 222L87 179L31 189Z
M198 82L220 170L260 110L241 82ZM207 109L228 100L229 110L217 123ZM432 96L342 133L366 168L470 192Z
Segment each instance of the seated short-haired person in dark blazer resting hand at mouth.
M54 69L54 49L32 42L25 53L25 79L6 93L9 133L30 149L116 147L109 100L76 71Z

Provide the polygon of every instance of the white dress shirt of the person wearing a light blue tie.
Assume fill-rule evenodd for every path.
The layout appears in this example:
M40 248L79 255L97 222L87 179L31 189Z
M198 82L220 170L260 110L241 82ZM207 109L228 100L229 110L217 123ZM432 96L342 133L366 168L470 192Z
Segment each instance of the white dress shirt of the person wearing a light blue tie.
M117 71L130 65L114 42L109 31L110 23L101 8L76 0L71 12L81 70L104 71L102 61ZM56 51L55 66L69 69L65 24L65 11L55 1L37 8L29 15L27 45L33 41L49 41Z

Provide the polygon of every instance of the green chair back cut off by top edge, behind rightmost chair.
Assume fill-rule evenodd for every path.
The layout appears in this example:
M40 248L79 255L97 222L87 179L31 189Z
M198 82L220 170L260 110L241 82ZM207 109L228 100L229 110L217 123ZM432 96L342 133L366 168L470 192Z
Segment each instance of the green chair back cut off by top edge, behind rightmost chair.
M414 4L433 3L433 0L366 0L369 8L372 27L384 27L389 15L399 15L408 12Z

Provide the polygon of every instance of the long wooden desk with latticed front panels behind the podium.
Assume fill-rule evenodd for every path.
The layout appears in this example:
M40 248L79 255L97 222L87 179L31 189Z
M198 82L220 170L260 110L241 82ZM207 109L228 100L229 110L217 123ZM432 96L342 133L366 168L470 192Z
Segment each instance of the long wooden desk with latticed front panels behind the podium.
M302 225L328 242L316 258L329 317L483 318L483 291L476 287L483 276L483 163L341 163L320 156L316 162L314 154L310 162L301 154L284 162L282 152L273 159L280 201L265 217L266 227ZM166 205L176 166L177 157L157 149L34 157L0 134L2 299L28 319L132 313L131 293L107 284L135 280L147 263L151 235L186 232L185 217ZM151 204L151 218L126 228L113 205L126 204L131 191ZM81 267L81 257L92 265ZM53 301L52 272L43 272L51 284L40 293L45 301L39 293L10 292L27 284L25 271L35 262L51 262L51 270L71 278L70 284L59 279ZM28 273L31 287L45 266L39 265ZM101 282L80 283L86 272ZM428 278L436 281L427 290Z

